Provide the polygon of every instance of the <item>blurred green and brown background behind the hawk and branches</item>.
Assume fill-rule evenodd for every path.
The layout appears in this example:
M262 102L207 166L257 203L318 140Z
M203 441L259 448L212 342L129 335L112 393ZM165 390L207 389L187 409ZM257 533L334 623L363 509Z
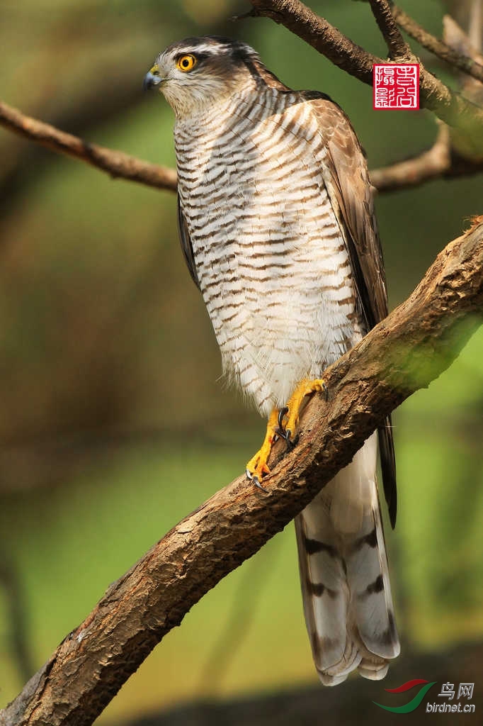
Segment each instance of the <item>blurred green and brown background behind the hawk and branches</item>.
M384 57L367 4L310 4ZM440 34L438 1L402 5ZM173 166L172 113L141 93L142 78L170 42L218 33L255 46L289 85L337 100L372 168L432 142L432 115L374 112L368 86L283 27L228 22L249 7L3 0L0 95L90 141ZM178 245L175 195L112 180L4 130L0 160L1 707L111 582L243 470L264 425L219 380L218 348ZM482 213L482 181L381 195L392 307ZM387 539L401 658L483 636L482 404L480 332L395 415L400 510ZM289 526L186 616L99 722L315 681Z

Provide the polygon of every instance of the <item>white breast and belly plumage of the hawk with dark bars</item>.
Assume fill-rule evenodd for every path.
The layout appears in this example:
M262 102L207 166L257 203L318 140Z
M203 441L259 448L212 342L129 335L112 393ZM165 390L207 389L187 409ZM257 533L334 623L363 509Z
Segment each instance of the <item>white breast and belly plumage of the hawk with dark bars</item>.
M255 82L225 104L176 121L178 193L224 370L268 415L361 327L310 105Z

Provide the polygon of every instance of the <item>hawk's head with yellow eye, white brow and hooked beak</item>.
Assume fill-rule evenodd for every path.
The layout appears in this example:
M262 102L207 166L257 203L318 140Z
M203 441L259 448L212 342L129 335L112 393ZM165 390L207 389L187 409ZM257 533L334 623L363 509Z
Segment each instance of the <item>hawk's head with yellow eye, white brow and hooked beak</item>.
M177 116L191 115L249 83L257 53L230 38L204 36L173 43L158 55L144 88L164 94Z

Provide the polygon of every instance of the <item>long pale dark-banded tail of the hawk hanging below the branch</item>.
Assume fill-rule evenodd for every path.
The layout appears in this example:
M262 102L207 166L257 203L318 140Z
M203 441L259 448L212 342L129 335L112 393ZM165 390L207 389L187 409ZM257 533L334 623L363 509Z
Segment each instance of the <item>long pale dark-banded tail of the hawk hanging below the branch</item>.
M324 685L379 680L400 650L376 488L376 435L295 520L305 621Z

